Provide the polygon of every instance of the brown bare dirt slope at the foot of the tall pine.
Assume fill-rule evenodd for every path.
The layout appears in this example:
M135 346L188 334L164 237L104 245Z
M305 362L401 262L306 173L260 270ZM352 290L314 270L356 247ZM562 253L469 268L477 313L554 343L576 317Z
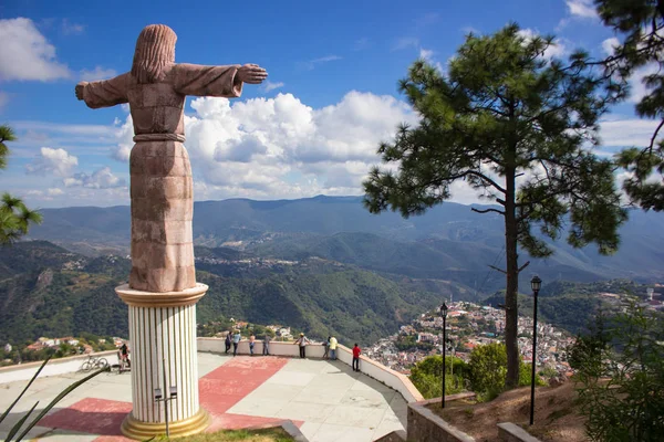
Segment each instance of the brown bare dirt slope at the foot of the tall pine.
M533 436L547 442L585 442L584 419L574 404L574 383L568 381L559 387L539 387L535 390L535 425L530 420L530 387L507 391L490 402L474 403L453 401L429 409L477 441L498 440L497 423L512 422L525 428Z

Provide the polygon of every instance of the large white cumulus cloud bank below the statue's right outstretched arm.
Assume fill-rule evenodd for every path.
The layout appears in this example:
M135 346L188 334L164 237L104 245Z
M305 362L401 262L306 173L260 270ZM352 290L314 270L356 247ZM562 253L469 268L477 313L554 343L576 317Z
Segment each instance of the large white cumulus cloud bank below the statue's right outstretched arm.
M196 98L185 116L197 200L360 194L380 141L416 122L405 103L361 92L322 108L282 93L230 104ZM114 155L128 151L132 135L127 116Z

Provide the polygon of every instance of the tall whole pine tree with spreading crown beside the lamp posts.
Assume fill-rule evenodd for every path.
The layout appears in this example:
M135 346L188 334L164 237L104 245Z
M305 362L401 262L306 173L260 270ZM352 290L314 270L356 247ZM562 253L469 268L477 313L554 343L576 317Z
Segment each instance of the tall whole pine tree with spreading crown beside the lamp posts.
M422 214L449 199L457 181L497 204L473 210L505 222L507 387L519 381L518 276L528 263L519 266L518 245L549 256L541 236L558 239L569 218L570 244L596 243L610 254L626 220L613 165L592 154L598 120L620 88L595 74L584 53L568 66L546 57L552 44L552 36L528 39L510 24L489 36L469 34L445 75L415 62L401 91L419 124L403 125L378 148L396 172L376 167L364 182L374 213Z

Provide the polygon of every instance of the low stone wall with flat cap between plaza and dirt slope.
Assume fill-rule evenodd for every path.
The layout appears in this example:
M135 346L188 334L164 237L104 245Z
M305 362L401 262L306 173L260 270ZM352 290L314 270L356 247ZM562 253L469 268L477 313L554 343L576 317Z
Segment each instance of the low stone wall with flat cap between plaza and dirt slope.
M446 401L474 397L475 393L452 394ZM408 403L408 441L417 442L475 442L475 438L454 428L427 408L440 398Z

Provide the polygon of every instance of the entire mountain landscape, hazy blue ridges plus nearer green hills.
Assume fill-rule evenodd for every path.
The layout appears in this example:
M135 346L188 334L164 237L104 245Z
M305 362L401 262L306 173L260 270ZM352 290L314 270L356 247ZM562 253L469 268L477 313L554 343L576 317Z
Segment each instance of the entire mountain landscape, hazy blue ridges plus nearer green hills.
M0 248L0 341L127 336L126 306L114 287L131 266L129 208L42 214L28 241ZM552 257L531 260L522 273L522 292L533 273L542 291L560 281L660 281L664 217L630 214L615 255L553 243ZM355 197L196 202L194 235L197 280L210 287L198 305L201 323L238 317L365 345L443 299L481 302L505 287L505 276L488 267L504 262L502 219L463 204L403 219L371 214ZM591 312L574 309L590 309L594 292L579 297L572 287L558 291L562 297L551 298L544 316L577 330Z

